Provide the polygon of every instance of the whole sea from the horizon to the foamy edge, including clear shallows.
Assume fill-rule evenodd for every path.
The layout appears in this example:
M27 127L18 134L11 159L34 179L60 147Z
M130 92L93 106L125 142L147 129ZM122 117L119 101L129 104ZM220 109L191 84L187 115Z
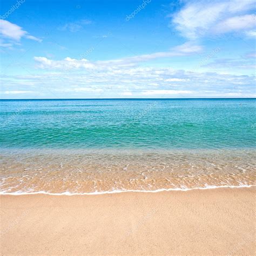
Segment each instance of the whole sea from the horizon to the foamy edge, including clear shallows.
M0 100L1 193L255 185L256 99Z

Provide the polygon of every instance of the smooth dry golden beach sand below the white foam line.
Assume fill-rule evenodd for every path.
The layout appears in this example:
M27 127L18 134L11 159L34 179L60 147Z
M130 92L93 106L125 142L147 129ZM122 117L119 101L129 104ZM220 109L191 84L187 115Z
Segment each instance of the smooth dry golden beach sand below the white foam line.
M2 255L255 255L255 188L1 196Z

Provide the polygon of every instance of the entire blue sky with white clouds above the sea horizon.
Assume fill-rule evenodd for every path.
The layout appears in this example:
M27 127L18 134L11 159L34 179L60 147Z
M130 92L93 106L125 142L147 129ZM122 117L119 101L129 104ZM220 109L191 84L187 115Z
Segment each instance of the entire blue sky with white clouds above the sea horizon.
M1 99L256 97L256 0L2 0Z

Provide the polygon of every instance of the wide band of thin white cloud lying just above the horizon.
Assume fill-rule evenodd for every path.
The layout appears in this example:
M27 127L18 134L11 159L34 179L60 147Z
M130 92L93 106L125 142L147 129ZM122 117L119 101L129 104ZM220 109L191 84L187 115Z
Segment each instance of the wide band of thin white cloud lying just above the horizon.
M168 82L169 79L182 82L174 84ZM103 72L46 70L35 75L2 76L1 80L2 91L32 92L36 88L40 93L35 97L41 95L43 98L231 97L230 93L237 93L240 97L256 96L255 76L171 68L127 67Z

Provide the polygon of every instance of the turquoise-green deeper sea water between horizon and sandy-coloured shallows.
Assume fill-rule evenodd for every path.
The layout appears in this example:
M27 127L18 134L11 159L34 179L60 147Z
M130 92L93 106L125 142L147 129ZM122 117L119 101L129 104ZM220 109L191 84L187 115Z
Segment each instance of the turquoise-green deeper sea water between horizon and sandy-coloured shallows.
M2 148L224 149L256 142L256 99L1 100Z

